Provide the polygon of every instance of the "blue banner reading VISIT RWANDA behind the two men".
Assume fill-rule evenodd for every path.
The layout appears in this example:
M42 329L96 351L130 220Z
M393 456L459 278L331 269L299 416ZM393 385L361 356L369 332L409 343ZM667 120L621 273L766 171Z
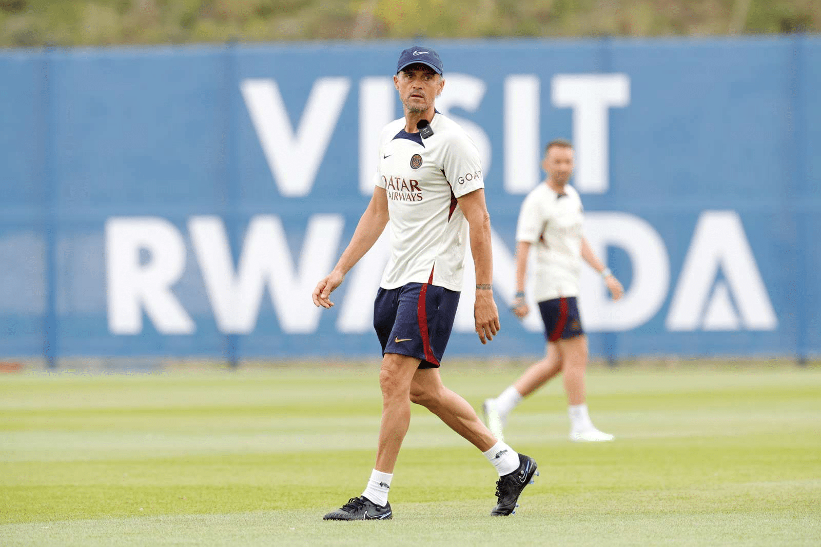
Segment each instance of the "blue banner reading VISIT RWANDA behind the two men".
M310 293L372 193L408 45L0 54L0 356L378 355L387 233L332 310ZM585 267L593 355L821 354L821 38L427 45L438 110L482 157L502 315L479 344L466 290L447 356L542 351L507 304L521 200L560 137L626 287L614 302Z

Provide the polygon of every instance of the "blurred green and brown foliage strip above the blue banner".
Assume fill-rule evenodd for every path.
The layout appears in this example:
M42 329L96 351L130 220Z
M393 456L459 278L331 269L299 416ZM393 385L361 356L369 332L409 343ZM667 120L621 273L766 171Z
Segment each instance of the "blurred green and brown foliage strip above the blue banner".
M0 0L0 47L797 31L819 0Z

